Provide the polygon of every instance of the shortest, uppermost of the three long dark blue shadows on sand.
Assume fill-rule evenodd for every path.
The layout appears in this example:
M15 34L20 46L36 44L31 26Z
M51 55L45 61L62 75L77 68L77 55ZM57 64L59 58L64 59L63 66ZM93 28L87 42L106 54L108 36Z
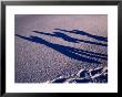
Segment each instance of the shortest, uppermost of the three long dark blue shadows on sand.
M80 31L80 30L72 30L72 31L62 30L62 29L54 29L54 30L63 31L63 32L70 32L70 33L75 33L75 34L80 34L80 35L87 35L87 36L92 37L92 39L95 39L95 40L98 40L98 41L108 42L108 37L99 36L99 35L93 35L93 34L90 34L90 33L88 33L88 32Z

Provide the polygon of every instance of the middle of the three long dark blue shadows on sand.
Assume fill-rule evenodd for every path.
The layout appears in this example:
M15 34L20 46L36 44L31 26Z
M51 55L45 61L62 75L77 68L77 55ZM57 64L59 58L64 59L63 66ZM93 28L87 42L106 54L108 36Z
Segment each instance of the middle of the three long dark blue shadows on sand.
M89 44L95 44L95 45L101 45L101 46L108 46L108 44L103 44L103 43L96 43L96 42L91 42L91 41L84 41L84 40L74 39L74 37L71 37L71 36L67 35L67 34L64 34L64 33L61 33L61 32L53 32L54 34L44 33L44 32L39 32L39 31L32 31L32 32L35 32L35 33L39 33L39 34L44 34L44 35L50 35L50 36L55 36L55 37L61 37L61 39L63 39L64 41L73 42L73 43L83 42L83 43L89 43Z

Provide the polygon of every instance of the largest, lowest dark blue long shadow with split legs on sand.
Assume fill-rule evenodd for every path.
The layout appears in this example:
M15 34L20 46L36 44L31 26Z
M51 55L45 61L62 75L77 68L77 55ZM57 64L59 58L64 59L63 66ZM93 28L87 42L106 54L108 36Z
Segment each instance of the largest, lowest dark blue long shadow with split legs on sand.
M78 61L82 61L82 62L87 62L87 63L93 63L93 64L101 64L98 58L98 55L101 55L99 53L96 53L98 55L92 55L95 54L94 52L89 52L89 51L83 51L83 50L79 50L79 48L74 48L74 47L70 47L70 46L64 46L64 45L60 45L60 44L54 44L54 43L50 43L41 37L38 36L22 36L22 35L18 35L16 34L16 36L34 42L34 43L40 43L40 44L44 44L48 47L51 47L71 58L78 60ZM91 53L91 55L90 55ZM89 57L88 57L89 56ZM93 58L93 56L95 57L95 60Z

